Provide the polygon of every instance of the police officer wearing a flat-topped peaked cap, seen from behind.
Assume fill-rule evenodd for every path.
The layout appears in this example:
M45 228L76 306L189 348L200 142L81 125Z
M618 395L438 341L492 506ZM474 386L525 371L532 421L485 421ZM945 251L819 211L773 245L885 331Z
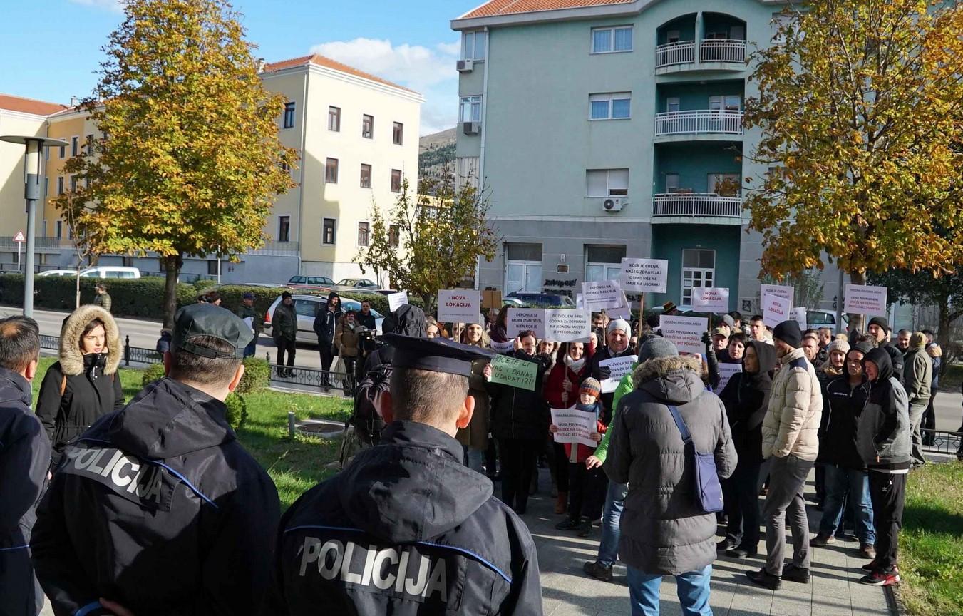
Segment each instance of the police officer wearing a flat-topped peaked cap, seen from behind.
M472 360L490 351L387 334L388 426L285 513L266 615L542 613L528 528L462 465Z

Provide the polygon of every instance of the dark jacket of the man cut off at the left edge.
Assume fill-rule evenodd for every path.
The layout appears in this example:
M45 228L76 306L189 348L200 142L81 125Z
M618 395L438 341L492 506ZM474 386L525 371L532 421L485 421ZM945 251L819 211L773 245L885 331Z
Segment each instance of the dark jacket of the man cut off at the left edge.
M43 600L30 530L50 466L50 442L30 410L30 383L0 368L0 614L35 616Z

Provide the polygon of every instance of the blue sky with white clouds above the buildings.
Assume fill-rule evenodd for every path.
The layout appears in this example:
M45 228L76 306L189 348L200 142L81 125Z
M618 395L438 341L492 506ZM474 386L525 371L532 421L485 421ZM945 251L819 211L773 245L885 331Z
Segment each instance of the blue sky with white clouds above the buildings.
M91 92L119 0L3 3L0 92L67 103ZM481 0L234 0L257 55L322 53L425 94L422 134L457 116L458 36L449 21ZM363 10L359 10L363 7ZM35 67L42 66L42 70Z

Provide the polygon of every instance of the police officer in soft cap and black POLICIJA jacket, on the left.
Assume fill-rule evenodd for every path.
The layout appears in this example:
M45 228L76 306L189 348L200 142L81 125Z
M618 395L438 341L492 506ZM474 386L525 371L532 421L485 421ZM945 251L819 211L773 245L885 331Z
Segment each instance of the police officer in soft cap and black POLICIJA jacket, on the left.
M235 616L264 600L277 491L223 403L250 327L212 304L174 321L168 376L68 446L40 502L31 548L57 616Z

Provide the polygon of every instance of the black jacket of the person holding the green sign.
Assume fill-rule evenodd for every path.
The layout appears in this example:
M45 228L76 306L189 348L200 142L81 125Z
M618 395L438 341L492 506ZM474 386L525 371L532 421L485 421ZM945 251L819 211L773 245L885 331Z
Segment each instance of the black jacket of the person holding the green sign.
M508 356L538 365L535 389L530 392L510 385L486 383L491 395L492 433L497 439L543 440L548 435L552 417L548 402L541 395L542 378L552 358L548 355L528 355L523 349Z

